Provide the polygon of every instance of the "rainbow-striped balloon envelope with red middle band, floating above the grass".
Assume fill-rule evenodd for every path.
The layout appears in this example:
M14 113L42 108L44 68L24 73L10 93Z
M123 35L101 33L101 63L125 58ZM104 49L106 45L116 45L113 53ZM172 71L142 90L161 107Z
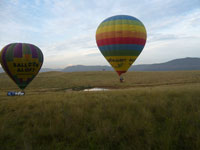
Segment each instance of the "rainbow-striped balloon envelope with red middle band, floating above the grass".
M125 73L140 55L146 37L143 23L128 15L109 17L96 31L99 50L119 76Z

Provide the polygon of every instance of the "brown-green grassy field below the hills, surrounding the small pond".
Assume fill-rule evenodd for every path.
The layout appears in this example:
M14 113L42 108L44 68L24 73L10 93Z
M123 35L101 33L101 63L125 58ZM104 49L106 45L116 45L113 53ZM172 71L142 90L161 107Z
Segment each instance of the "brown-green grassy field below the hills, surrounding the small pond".
M200 149L200 71L48 72L7 91L0 74L0 150Z

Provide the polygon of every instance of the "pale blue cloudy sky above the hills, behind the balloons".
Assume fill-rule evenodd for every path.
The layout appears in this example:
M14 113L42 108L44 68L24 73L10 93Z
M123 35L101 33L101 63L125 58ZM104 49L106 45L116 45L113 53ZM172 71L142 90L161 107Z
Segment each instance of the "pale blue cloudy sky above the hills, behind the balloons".
M32 43L48 68L108 65L95 33L119 14L138 18L147 30L134 64L200 57L200 0L0 0L0 48Z

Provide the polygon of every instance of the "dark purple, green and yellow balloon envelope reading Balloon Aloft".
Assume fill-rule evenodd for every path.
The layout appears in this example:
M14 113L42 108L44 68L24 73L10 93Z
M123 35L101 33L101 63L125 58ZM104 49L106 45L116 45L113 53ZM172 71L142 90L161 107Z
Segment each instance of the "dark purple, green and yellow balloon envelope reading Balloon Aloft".
M4 71L22 90L34 79L43 64L42 51L28 43L11 43L0 52Z

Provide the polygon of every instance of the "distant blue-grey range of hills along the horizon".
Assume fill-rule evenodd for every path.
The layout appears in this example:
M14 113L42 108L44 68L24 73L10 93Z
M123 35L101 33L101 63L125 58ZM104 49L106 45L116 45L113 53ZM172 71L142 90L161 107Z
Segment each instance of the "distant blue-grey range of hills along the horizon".
M164 63L132 65L129 71L180 71L200 70L200 58L180 58ZM61 71L61 72L84 72L84 71L113 71L111 66L68 66L64 69L42 68L40 72ZM0 73L3 69L0 68Z

